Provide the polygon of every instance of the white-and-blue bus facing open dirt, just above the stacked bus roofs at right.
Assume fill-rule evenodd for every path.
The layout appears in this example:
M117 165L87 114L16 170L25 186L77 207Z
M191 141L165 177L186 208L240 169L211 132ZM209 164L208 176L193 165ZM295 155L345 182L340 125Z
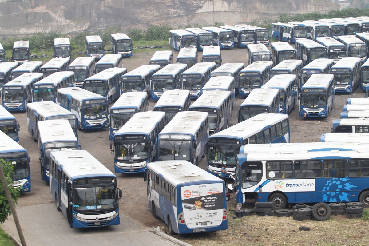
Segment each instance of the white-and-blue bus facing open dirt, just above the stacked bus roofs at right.
M333 109L334 99L334 76L331 74L311 75L301 87L299 115L304 118L327 118Z

